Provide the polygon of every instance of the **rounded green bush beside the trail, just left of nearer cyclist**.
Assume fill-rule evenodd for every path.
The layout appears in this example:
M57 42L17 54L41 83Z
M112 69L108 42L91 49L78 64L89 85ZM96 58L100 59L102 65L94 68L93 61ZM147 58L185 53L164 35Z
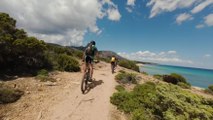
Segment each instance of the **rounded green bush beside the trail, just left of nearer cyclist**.
M78 72L80 71L79 62L66 54L60 54L57 58L58 68L61 71Z

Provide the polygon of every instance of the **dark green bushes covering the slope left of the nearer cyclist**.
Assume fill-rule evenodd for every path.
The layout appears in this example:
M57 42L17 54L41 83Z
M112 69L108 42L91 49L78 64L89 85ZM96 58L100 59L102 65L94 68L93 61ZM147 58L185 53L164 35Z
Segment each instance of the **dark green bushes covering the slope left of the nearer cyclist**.
M36 75L44 68L79 71L75 58L82 58L82 55L79 50L28 37L24 30L16 28L16 20L0 13L0 74Z

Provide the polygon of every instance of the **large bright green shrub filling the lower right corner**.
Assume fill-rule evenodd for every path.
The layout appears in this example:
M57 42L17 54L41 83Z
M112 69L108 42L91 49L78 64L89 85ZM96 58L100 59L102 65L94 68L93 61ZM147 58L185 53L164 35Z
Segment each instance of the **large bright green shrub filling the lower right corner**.
M172 84L137 85L133 91L114 93L110 101L133 120L213 119L213 100Z

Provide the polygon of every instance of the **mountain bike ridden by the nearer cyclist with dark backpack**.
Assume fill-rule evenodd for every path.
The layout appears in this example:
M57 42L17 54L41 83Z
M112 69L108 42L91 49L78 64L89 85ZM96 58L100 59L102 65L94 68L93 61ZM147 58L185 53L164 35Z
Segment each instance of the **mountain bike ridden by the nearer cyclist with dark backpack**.
M83 75L83 78L81 80L81 91L84 94L85 91L88 89L88 81L90 80L90 67L86 66L86 72Z

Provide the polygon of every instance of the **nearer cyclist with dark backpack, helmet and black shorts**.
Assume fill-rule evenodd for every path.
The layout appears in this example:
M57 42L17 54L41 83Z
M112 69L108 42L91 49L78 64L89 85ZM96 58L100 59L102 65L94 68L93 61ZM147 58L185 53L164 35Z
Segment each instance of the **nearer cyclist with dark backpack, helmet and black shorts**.
M89 66L90 68L90 82L92 81L92 75L93 75L93 62L94 62L94 57L97 56L98 53L98 49L95 46L95 41L91 41L90 43L88 43L85 51L84 51L84 55L83 55L83 61L85 61L85 65L84 65L84 74L86 72L86 68L87 66Z

